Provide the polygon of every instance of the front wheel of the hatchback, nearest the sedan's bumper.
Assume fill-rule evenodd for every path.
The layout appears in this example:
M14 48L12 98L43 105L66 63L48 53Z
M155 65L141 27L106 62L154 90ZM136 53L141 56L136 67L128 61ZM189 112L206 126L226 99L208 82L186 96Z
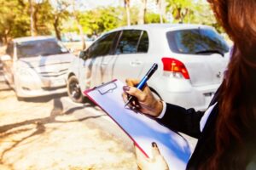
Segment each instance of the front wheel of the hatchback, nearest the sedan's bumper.
M79 87L79 80L77 77L72 76L67 80L67 94L76 103L84 102L84 95Z

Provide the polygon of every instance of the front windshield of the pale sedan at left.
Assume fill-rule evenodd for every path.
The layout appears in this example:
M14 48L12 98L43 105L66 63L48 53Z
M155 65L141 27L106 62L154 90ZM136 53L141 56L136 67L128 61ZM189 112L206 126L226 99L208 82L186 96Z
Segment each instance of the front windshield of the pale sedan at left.
M47 40L36 40L30 42L20 42L17 44L18 58L35 56L47 56L55 54L67 54L68 50L54 38Z

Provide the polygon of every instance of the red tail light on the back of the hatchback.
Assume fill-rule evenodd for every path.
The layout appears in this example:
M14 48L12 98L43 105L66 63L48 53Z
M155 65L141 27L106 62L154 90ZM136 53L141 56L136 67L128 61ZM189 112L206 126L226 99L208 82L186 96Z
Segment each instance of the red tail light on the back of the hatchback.
M185 79L189 79L189 72L181 61L172 58L162 58L162 62L164 65L164 71L181 73Z

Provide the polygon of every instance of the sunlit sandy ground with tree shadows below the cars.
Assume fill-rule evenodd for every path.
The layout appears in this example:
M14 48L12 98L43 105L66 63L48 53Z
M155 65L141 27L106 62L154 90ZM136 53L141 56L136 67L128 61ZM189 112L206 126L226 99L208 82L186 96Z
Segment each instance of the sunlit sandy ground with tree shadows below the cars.
M19 102L0 91L0 169L137 169L132 144L104 130L113 122L102 111L63 98Z

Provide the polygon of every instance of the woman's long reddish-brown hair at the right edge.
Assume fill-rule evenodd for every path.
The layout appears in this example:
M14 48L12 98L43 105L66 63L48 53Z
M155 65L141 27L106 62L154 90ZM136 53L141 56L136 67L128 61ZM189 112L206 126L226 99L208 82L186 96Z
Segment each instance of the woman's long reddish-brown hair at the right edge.
M246 169L256 149L256 1L211 3L234 48L218 100L216 151L203 167Z

